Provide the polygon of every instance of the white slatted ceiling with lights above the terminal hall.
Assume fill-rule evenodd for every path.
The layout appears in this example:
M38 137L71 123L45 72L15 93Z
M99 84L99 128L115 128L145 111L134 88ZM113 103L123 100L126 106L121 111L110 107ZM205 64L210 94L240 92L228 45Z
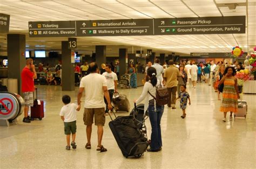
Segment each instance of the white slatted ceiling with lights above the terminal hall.
M237 7L230 10L228 6ZM26 34L26 48L60 50L67 38L29 38L29 21L98 20L138 18L181 18L246 16L245 34L202 34L173 36L77 37L78 51L91 54L95 45L107 45L107 55L118 48L129 52L152 49L157 53L231 52L256 46L256 0L0 0L0 13L9 14L10 33ZM6 53L6 34L0 34L0 55Z

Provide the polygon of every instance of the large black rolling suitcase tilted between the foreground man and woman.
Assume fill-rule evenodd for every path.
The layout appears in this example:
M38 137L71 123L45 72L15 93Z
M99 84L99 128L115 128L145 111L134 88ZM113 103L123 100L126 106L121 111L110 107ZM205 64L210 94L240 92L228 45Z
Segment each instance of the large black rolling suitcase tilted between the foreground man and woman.
M115 114L114 116L116 117ZM149 144L146 136L134 124L133 116L118 116L113 120L110 115L110 118L109 127L123 156L141 157Z

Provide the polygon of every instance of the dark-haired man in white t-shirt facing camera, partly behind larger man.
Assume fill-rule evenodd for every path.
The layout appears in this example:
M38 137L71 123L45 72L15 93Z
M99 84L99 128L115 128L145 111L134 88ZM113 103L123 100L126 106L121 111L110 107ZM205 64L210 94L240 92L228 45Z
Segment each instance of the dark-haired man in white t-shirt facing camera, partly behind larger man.
M117 74L111 71L112 66L110 64L106 65L106 72L104 72L102 75L105 76L107 80L107 90L109 90L109 96L110 96L110 102L112 102L112 98L114 93L117 93ZM106 104L106 110L105 112L108 112L109 109L107 108L108 104L106 101L106 98L104 97L104 102Z

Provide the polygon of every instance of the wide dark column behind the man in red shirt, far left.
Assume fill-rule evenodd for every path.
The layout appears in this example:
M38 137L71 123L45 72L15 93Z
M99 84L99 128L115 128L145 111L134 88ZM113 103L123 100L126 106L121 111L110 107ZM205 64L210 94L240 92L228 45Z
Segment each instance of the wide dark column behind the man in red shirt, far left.
M21 90L21 72L26 65L26 37L24 34L7 35L8 78L18 80L18 94Z

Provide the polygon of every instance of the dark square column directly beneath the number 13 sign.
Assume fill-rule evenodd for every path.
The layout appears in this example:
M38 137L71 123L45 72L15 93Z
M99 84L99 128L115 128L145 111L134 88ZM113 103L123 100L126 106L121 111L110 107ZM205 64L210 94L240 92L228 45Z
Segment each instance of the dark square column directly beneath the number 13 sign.
M75 64L71 62L72 51L68 46L68 41L62 41L62 91L75 90Z

